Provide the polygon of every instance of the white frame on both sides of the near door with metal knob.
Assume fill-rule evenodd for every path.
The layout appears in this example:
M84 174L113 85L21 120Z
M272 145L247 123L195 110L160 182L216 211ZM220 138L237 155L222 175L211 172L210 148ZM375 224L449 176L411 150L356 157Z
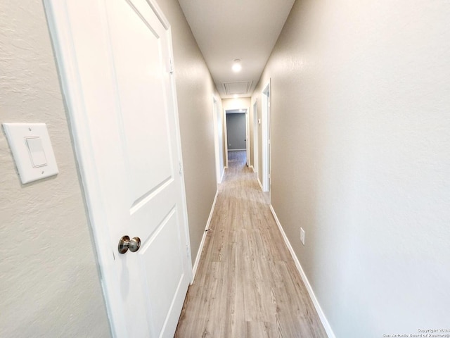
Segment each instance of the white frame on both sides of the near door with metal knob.
M133 0L127 0L133 1ZM162 26L165 27L169 39L169 56L170 64L173 60L172 49L172 32L169 22L162 13L160 7L155 0L146 0L146 4L155 12ZM95 5L95 3L93 4ZM51 32L51 39L55 52L56 64L58 66L60 85L63 96L65 97L65 104L68 107L69 130L72 135L72 146L75 151L75 157L78 162L79 175L83 187L83 197L86 203L86 216L91 227L93 241L86 241L82 245L89 245L89 242L94 246L96 253L96 260L98 261L98 269L100 270L99 279L103 291L103 298L105 299L105 307L108 313L110 322L110 330L113 337L126 337L124 332L126 325L124 325L124 315L122 310L122 302L120 297L120 284L117 281L117 274L115 271L114 261L115 255L118 253L111 251L110 236L108 232L108 210L102 201L102 192L98 186L96 177L98 176L96 158L91 144L94 144L94 139L89 130L89 116L84 108L84 99L82 94L82 87L79 83L77 57L74 46L72 44L72 34L70 27L70 20L68 18L68 11L65 6L65 1L60 0L44 0L44 10L46 12L49 31ZM101 8L101 15L106 20L105 8ZM172 69L172 68L170 68ZM169 71L169 69L168 69ZM181 137L179 127L179 113L176 101L176 86L174 76L170 77L170 85L172 89L172 108L174 110L175 129L176 129L176 146L179 149L179 165L181 177L181 212L184 214L184 232L186 234L186 247L188 255L191 257L191 246L188 229L188 213L186 205L186 190L184 184L184 173L182 170L183 158L181 155ZM118 242L118 239L117 239ZM190 275L189 280L192 282L192 262L188 259L188 271Z

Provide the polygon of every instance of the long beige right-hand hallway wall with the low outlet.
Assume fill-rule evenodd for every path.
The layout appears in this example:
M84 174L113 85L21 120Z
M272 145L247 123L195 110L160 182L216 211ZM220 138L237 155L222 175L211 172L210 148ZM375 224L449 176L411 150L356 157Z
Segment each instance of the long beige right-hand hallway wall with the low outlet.
M271 203L336 337L448 328L449 17L297 0L252 97L271 78Z

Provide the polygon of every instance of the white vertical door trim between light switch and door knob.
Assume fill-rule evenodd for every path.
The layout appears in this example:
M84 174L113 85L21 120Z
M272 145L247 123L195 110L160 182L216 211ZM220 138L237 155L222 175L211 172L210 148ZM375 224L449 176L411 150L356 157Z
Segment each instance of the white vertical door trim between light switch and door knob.
M44 0L44 10L55 49L63 96L65 104L68 106L70 133L73 138L75 157L79 163L79 175L86 201L89 225L96 244L95 251L98 268L101 272L101 286L110 330L113 337L124 337L127 332L126 323L123 320L124 313L120 310L120 299L110 296L111 294L120 294L120 289L117 283L108 282L117 280L117 275L113 268L114 258L110 251L108 217L103 205L101 188L96 180L96 158L92 150L93 140L89 128L89 118L84 108L84 97L81 84L79 84L79 70L75 47L72 44L68 11L65 2L55 0Z

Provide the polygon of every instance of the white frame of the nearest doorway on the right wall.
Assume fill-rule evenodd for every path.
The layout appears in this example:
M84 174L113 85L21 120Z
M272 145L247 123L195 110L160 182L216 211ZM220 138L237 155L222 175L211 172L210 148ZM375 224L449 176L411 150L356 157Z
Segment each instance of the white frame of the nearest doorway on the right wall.
M266 83L262 89L262 191L270 192L270 173L271 173L271 80Z

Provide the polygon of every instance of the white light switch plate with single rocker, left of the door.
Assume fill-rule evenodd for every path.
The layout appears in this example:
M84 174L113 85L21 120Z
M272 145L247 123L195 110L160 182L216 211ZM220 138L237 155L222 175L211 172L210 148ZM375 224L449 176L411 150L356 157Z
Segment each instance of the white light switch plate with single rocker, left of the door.
M23 184L58 174L45 123L4 123L3 127Z

